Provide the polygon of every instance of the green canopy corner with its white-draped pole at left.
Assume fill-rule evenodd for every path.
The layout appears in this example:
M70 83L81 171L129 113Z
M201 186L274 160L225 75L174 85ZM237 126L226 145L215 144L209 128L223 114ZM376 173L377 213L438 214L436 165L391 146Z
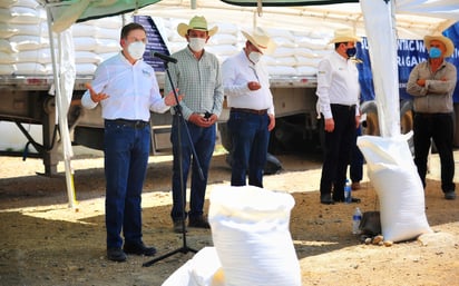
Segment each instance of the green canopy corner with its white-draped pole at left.
M71 158L70 132L67 114L70 107L72 89L76 78L75 49L71 32L68 29L74 22L89 19L119 14L152 4L158 0L107 0L107 1L56 1L41 0L47 9L47 21L50 39L50 55L52 59L53 93L56 96L56 121L59 125L60 140L62 144L62 157L66 170L66 186L69 207L76 208L77 200L74 185L74 169ZM57 37L57 49L53 36Z

